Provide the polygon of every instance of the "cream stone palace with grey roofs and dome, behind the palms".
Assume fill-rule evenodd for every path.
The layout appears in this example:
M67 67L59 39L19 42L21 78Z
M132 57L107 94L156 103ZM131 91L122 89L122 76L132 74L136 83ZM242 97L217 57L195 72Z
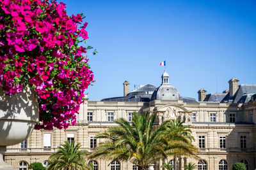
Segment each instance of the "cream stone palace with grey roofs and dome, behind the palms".
M129 82L124 82L124 96L111 97L101 101L85 101L81 105L77 124L68 129L33 131L29 138L19 145L8 146L4 159L13 169L28 169L32 162L47 165L51 153L58 150L64 141L76 141L83 149L92 150L99 145L95 135L115 126L116 118L132 120L132 113L150 111L157 113L157 123L166 119L179 118L191 126L195 146L200 149L200 159L170 157L174 169L184 169L184 164L195 163L198 169L232 169L235 162L244 162L247 169L256 168L256 85L239 85L236 78L228 81L229 90L223 93L206 94L198 91L198 101L181 97L170 84L164 71L160 87L143 85L129 92ZM95 169L119 170L137 169L131 162L94 160ZM161 169L162 161L151 169Z

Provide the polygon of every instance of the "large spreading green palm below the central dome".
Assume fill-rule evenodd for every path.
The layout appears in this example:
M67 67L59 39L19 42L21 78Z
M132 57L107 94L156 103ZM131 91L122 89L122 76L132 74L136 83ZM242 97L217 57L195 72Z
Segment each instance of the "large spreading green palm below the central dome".
M154 125L155 120L156 114L150 116L148 112L134 113L132 123L124 118L115 120L118 127L97 134L97 138L105 140L95 148L91 158L130 160L140 169L148 169L168 155L195 155L196 148L186 133L173 128L170 120Z

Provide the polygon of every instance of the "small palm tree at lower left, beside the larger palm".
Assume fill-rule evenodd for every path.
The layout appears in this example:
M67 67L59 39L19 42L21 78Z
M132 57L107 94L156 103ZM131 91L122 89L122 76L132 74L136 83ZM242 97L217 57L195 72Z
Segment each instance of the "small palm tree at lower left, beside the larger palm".
M52 153L48 160L47 169L49 170L68 170L68 169L90 169L85 164L85 157L88 155L88 151L79 150L82 145L72 141L65 141L65 144L59 146L59 150L56 153Z

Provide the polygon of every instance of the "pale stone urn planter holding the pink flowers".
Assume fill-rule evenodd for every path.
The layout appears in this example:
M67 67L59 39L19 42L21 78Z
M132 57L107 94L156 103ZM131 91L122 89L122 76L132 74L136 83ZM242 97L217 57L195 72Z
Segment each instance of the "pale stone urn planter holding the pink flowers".
M33 90L23 88L12 96L0 90L0 170L12 169L3 161L6 146L26 140L38 120L38 102Z

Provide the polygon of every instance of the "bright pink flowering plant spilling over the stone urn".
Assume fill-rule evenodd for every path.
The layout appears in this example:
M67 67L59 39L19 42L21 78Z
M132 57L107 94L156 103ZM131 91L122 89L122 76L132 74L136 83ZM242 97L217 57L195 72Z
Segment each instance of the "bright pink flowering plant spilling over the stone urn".
M93 73L79 46L88 39L83 14L48 0L0 0L0 89L6 95L29 86L38 96L35 129L76 124ZM93 52L95 54L96 51Z

